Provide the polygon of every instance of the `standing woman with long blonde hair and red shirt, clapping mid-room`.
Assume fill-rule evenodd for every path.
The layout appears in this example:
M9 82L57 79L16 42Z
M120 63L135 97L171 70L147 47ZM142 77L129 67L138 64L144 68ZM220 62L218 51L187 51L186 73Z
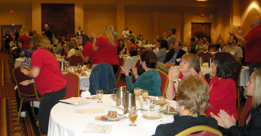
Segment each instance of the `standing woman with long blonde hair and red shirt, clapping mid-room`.
M93 50L98 50L99 62L109 63L113 67L114 73L117 72L119 61L117 58L117 40L112 25L106 25L102 36L96 40L96 34L91 33L93 37Z

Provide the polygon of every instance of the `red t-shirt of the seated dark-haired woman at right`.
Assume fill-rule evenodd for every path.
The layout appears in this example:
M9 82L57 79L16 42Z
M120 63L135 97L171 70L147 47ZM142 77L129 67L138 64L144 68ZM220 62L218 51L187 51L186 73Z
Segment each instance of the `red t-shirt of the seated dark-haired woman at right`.
M236 109L237 102L237 90L235 82L232 78L221 78L218 80L217 77L213 77L209 82L209 107L206 109L205 114L209 117L213 114L218 115L219 110L226 111L229 115L233 115L235 120L238 120L238 113Z

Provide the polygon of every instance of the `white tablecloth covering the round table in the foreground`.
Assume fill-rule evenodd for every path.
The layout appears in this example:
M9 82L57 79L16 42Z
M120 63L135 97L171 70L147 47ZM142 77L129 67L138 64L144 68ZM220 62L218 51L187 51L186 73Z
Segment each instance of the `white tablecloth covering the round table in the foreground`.
M95 96L95 95L93 95ZM90 100L90 103L87 104L65 104L59 102L56 104L50 113L49 119L49 128L48 128L48 136L87 136L87 135L125 135L125 136L134 136L134 135L153 135L155 130L152 130L142 124L143 120L146 120L142 117L137 117L137 126L129 126L131 122L128 119L125 119L121 122L99 122L95 120L96 116L106 115L109 110L118 111L119 109L111 106L113 103L113 99L110 98L110 94L103 95L102 101L103 103L97 103L98 100ZM176 108L177 102L173 100L167 100L170 102L170 106ZM137 108L140 107L136 101ZM92 108L102 108L105 113L93 113L93 114L80 114L74 113L73 109L92 109ZM147 113L155 113L158 114L157 111L160 107L155 106L154 112L146 111ZM166 108L166 106L164 106ZM160 120L168 120L169 122L173 122L173 116L162 115L161 119L157 119L154 121ZM99 125L113 125L111 134L91 134L91 133L82 133L81 131L84 129L87 123L95 123Z

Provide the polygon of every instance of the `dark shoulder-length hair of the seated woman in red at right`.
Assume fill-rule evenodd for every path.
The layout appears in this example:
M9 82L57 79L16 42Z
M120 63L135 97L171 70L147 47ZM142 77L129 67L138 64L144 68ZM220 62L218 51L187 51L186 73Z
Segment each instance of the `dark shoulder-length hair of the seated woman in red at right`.
M213 63L217 64L216 75L218 78L235 78L236 60L228 52L217 52L212 56Z

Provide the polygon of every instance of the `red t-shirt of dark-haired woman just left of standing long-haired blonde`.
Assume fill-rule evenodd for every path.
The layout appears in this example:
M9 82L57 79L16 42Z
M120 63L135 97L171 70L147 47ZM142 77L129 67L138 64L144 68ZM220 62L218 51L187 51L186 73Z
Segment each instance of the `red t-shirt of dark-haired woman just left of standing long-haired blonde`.
M98 51L93 50L93 43L87 41L83 49L84 49L84 57L89 56L90 63L98 64L99 55L98 55Z

